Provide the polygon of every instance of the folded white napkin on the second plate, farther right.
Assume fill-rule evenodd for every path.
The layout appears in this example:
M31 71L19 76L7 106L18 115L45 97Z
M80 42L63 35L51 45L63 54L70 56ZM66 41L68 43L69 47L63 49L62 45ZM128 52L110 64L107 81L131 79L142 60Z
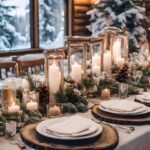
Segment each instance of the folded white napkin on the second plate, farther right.
M142 107L141 104L129 100L110 100L101 102L100 105L118 112L133 112Z

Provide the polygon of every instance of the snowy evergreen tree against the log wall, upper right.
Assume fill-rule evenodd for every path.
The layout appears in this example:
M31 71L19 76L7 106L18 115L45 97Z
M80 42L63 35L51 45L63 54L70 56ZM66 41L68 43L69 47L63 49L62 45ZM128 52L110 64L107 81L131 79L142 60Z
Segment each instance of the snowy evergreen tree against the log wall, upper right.
M134 0L98 0L90 15L88 29L93 35L102 33L104 27L115 26L129 32L129 50L138 51L147 42L144 25L149 23L145 8L135 5Z

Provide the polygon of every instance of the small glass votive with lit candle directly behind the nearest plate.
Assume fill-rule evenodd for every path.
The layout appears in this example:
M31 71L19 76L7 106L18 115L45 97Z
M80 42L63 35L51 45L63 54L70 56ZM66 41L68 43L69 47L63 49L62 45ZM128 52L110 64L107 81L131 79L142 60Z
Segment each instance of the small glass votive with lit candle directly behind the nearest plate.
M47 105L47 117L54 118L60 117L62 115L62 107L61 104L48 104Z

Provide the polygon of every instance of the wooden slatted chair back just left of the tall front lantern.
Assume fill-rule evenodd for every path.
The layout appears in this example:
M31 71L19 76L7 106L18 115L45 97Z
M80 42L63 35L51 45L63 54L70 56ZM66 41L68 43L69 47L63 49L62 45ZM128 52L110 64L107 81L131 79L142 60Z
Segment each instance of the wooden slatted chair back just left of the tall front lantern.
M44 72L44 58L35 60L18 60L19 75L36 74Z

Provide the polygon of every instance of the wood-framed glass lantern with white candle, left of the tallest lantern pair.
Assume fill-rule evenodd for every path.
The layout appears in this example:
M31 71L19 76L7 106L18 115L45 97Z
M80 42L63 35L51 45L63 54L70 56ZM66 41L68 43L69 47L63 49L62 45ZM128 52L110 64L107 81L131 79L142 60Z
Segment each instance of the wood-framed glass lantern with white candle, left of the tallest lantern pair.
M86 78L87 69L91 67L92 49L90 48L88 51L88 46L90 43L91 37L67 37L66 44L68 46L68 74L77 83L79 83L81 80L81 70L82 77ZM74 63L78 64L78 66L74 66ZM78 74L78 78L75 76L76 73Z

